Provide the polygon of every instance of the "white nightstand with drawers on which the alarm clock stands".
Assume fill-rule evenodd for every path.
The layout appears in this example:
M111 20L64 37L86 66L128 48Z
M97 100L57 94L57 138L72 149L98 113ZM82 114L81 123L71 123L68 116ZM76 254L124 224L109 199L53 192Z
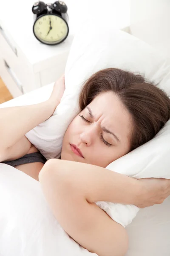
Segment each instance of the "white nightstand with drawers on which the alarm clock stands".
M13 97L50 84L64 73L74 34L87 18L96 22L96 26L106 19L113 27L129 32L129 0L108 0L109 8L105 13L98 0L82 1L81 6L79 0L64 0L68 6L68 38L56 46L41 44L32 31L34 1L8 0L1 3L0 76Z

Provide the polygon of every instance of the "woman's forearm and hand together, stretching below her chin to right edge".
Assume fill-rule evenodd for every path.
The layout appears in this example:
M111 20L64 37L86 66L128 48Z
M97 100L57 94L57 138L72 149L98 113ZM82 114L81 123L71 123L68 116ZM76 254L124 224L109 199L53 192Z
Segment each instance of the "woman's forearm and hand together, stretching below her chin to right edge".
M170 180L134 179L103 167L51 159L54 175L85 196L89 203L108 201L141 208L161 204L170 195Z

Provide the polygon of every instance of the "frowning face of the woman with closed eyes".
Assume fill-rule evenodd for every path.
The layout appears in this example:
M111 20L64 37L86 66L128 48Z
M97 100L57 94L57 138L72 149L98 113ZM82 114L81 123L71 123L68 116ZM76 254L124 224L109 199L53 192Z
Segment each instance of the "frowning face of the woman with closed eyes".
M131 125L131 115L118 97L100 93L68 126L61 159L105 168L130 151Z

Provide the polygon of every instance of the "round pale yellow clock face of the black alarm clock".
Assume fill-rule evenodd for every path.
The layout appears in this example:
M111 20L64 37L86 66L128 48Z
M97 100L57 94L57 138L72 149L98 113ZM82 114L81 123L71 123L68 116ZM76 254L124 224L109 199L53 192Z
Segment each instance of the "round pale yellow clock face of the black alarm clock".
M59 44L68 35L68 25L57 15L42 15L33 26L35 37L44 44Z

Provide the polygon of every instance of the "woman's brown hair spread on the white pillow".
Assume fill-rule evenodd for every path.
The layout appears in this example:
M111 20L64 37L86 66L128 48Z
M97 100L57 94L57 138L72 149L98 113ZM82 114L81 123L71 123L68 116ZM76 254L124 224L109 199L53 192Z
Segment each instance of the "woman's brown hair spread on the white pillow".
M99 93L115 93L133 117L132 151L151 140L170 118L170 99L156 86L140 74L117 68L100 70L85 81L79 108L82 111Z

